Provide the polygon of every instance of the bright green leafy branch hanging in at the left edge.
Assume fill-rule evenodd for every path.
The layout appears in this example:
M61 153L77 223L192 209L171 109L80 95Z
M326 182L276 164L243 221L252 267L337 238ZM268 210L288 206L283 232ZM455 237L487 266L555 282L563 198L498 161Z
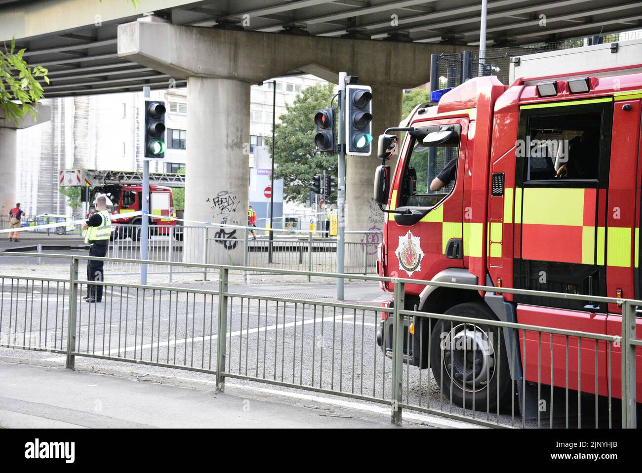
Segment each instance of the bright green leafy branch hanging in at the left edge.
M15 50L15 41L11 46L4 45L0 50L0 107L6 119L18 123L26 114L35 116L35 105L44 96L39 80L49 83L47 69L37 65L29 67L22 55L24 49Z

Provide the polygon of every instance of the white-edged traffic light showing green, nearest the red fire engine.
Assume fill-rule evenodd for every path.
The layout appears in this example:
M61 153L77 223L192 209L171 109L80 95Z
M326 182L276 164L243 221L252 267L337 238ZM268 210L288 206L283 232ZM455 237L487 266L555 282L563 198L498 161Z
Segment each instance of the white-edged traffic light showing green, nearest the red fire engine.
M372 89L345 86L345 154L366 156L372 142Z

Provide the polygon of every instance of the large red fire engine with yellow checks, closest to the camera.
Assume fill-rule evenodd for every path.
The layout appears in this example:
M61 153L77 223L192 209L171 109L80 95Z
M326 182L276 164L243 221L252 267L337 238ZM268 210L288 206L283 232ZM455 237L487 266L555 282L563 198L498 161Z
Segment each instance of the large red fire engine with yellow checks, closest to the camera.
M379 137L383 165L374 199L384 210L388 205L379 275L498 288L406 284L407 310L620 335L616 304L499 288L642 297L642 40L521 56L510 67L510 85L494 76L468 80L390 129L405 133L394 175L385 160L397 137ZM390 283L383 289L394 290ZM395 321L392 314L383 318L377 341L390 356ZM564 336L542 336L538 345L537 332L499 334L490 325L438 320L429 326L423 318L404 323L404 345L410 340L404 361L431 368L442 393L468 408L510 405L512 383L521 395L523 384L538 379L597 395L621 393L621 348L606 342L578 347L571 337L567 348ZM642 318L636 327L642 338ZM440 343L442 334L490 349L464 358ZM640 348L636 361L642 399Z

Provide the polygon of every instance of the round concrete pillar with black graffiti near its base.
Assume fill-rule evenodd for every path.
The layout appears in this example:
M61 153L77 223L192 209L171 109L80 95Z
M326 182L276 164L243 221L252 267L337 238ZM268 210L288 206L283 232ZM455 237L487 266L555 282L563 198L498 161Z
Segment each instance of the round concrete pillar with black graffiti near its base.
M247 225L250 164L244 148L250 136L250 83L189 77L187 110L185 218ZM243 262L243 230L208 231L209 262ZM202 257L196 261L202 262Z

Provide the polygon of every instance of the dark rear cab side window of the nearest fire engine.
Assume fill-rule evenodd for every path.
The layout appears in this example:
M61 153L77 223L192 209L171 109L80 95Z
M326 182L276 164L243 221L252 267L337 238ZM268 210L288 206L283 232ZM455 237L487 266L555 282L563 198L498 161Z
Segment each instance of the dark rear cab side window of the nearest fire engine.
M601 112L531 117L517 158L528 158L528 180L595 180Z

